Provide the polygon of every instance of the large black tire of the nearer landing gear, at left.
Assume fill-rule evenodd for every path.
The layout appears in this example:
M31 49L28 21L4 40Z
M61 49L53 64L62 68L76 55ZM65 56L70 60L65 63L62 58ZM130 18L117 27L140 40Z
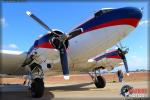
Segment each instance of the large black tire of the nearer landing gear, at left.
M31 84L31 95L33 98L40 98L44 94L43 79L36 78Z

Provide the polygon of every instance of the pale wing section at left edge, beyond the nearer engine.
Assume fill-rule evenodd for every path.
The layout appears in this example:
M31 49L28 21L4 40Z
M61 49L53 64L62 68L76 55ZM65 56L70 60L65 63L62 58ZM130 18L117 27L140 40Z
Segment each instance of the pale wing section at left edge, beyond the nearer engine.
M22 68L21 65L26 59L27 53L20 51L1 50L0 55L0 74L18 75L25 73L25 69Z

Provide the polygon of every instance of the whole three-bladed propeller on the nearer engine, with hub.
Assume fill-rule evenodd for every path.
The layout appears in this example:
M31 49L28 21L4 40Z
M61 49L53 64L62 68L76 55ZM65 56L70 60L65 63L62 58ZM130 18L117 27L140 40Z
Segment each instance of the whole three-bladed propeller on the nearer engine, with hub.
M36 22L38 22L42 27L44 27L46 30L50 32L50 34L55 34L57 37L54 37L53 39L59 43L59 47L57 48L60 52L60 61L61 61L61 67L64 75L64 79L69 79L69 68L68 68L68 57L67 57L67 51L65 46L65 41L70 40L73 37L81 34L83 32L82 28L75 29L72 32L70 32L68 35L66 34L58 34L54 32L50 27L48 27L43 21L41 21L38 17L36 17L33 13L30 11L26 11L26 14L30 16L32 19L34 19Z

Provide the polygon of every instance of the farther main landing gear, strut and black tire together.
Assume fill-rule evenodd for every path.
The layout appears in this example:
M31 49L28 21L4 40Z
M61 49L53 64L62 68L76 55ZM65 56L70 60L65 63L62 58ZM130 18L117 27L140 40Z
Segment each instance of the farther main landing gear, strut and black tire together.
M104 67L96 67L89 73L97 88L104 88L106 86L106 80L100 73L101 69L104 69Z

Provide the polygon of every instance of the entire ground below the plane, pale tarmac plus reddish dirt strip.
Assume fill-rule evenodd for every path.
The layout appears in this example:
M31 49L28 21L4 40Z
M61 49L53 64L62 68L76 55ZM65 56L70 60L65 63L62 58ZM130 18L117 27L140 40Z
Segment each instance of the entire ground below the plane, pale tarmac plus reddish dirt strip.
M135 97L150 97L149 72L133 72L124 76L122 83L118 82L116 74L104 74L105 88L96 88L88 74L71 75L65 81L63 76L48 76L44 78L45 92L41 98L32 98L27 86L23 86L23 77L0 77L0 100L112 100L126 99L120 94L124 85L130 85L135 90L146 90ZM137 92L137 91L134 91ZM135 94L135 93L134 93Z

